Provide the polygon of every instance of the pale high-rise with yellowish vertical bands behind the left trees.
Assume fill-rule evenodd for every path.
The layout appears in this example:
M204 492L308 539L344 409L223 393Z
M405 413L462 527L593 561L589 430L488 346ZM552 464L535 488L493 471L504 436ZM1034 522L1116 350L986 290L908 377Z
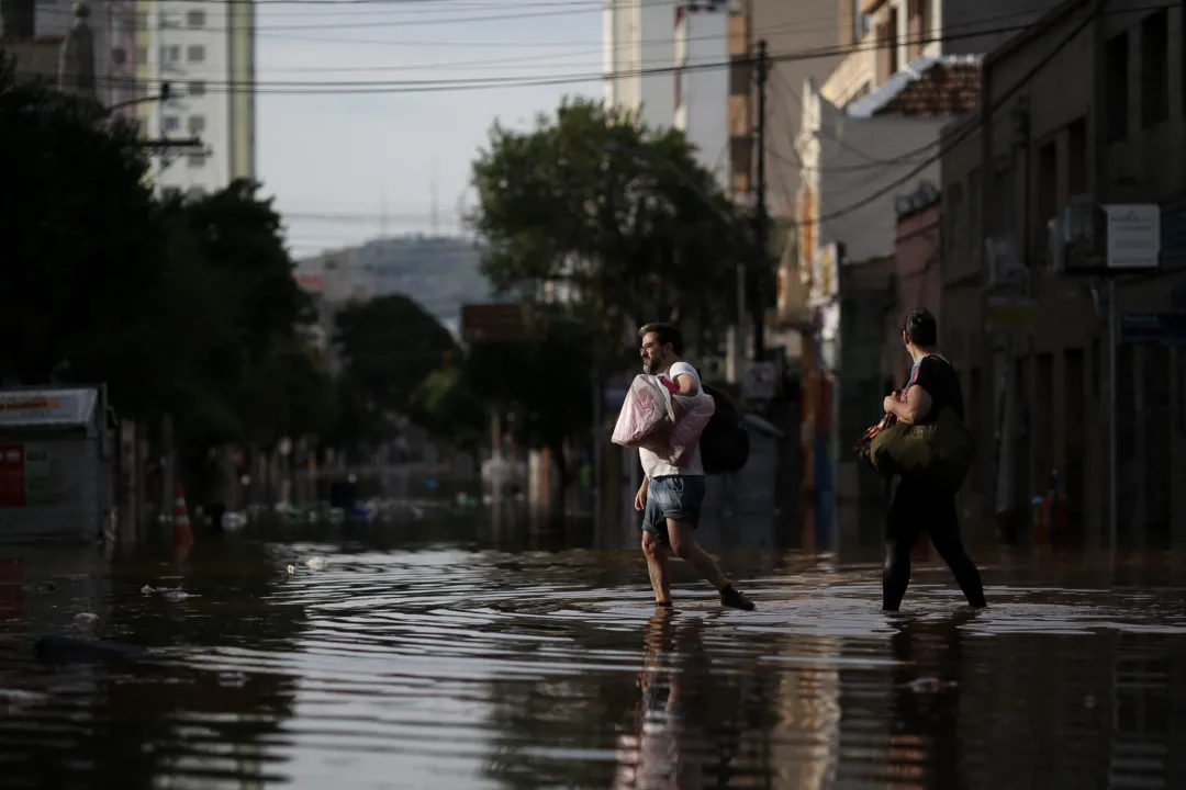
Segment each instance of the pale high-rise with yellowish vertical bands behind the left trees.
M136 105L152 139L198 137L200 150L160 156L161 194L200 195L255 175L255 6L152 2L136 6L136 81L173 98Z

